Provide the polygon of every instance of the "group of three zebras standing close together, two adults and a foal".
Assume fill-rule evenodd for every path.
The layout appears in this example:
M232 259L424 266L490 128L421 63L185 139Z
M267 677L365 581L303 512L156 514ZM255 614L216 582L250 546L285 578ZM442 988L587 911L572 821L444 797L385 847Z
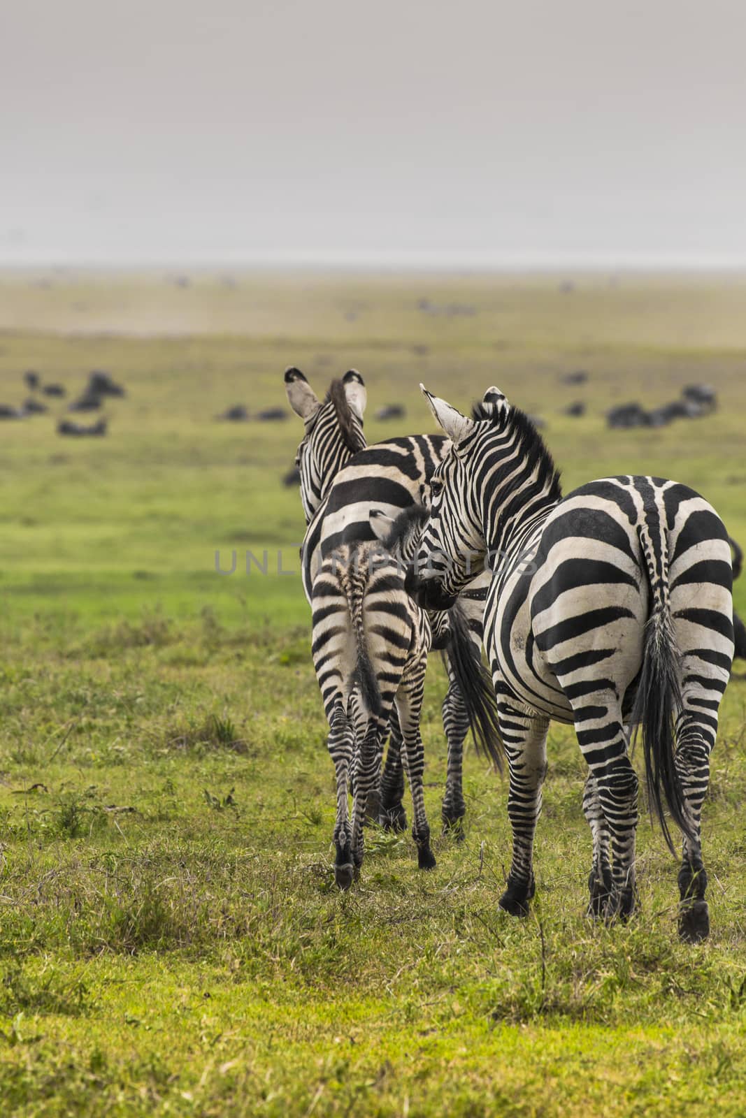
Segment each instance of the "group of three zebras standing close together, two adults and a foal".
M403 770L419 866L435 864L418 723L427 653L444 647L446 827L461 834L469 727L493 762L508 762L513 849L500 907L525 916L533 896L554 719L574 724L588 766L588 911L630 917L639 811L629 754L640 730L651 805L672 850L665 812L682 835L679 935L706 938L700 816L734 656L731 541L715 510L688 486L650 476L563 495L536 426L497 388L469 418L423 387L443 435L374 446L355 370L322 400L299 369L285 372L285 388L304 423L303 585L337 771L338 884L349 888L359 871L371 799L381 824L406 825Z

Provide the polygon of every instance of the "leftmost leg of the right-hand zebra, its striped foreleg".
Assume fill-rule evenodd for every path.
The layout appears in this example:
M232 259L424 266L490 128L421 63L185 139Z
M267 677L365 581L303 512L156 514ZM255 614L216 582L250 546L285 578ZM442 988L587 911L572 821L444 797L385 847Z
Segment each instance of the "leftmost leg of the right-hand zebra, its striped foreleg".
M541 811L541 784L547 771L549 719L530 717L499 704L500 732L510 769L508 817L513 833L513 851L508 888L500 908L511 916L528 916L533 897L533 836Z

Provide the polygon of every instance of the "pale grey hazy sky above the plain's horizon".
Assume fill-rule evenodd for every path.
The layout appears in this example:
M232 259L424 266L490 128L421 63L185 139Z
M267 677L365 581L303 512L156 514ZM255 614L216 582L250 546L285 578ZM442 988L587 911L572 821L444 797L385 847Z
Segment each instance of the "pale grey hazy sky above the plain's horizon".
M746 265L743 0L0 0L0 263Z

